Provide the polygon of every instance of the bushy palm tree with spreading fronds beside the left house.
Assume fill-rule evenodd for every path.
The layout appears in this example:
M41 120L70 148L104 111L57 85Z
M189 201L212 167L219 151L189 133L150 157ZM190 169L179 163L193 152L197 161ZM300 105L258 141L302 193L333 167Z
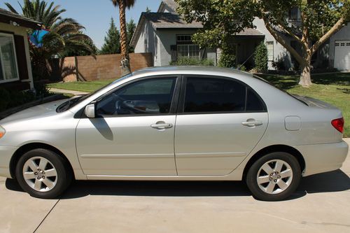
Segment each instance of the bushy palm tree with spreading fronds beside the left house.
M10 3L5 4L10 11L19 14ZM82 31L85 27L72 18L62 18L60 15L66 10L54 4L44 0L23 0L23 5L20 4L22 15L42 22L43 28L50 31L43 37L41 48L30 45L33 73L38 76L36 78L44 78L48 75L50 69L48 62L52 57L62 58L70 52L77 51L93 54L92 40ZM32 31L28 32L31 34Z

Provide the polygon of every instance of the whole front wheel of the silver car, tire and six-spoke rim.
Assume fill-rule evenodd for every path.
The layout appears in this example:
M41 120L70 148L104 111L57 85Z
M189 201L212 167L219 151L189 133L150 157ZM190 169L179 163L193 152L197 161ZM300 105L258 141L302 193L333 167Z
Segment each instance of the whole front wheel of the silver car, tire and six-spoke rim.
M18 160L15 175L21 188L32 197L55 198L71 183L66 162L51 150L30 150Z

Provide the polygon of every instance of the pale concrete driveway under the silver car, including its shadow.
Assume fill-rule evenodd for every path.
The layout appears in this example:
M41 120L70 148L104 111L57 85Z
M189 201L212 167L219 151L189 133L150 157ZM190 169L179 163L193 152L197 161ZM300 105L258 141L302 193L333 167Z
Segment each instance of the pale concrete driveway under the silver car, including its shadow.
M80 181L43 200L2 178L0 232L350 232L349 176L348 156L284 202L257 201L241 182L146 181Z

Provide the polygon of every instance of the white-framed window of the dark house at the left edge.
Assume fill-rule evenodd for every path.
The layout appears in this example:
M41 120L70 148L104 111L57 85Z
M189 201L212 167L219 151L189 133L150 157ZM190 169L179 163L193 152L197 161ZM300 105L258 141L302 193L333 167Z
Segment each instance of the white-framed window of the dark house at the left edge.
M16 61L13 35L0 33L0 83L19 79Z

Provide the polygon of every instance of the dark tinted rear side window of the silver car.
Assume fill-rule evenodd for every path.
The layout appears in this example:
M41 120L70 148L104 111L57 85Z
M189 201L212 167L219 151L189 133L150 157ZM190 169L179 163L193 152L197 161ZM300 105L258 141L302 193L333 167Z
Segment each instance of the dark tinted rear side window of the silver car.
M226 78L187 78L184 113L264 111L250 87Z

